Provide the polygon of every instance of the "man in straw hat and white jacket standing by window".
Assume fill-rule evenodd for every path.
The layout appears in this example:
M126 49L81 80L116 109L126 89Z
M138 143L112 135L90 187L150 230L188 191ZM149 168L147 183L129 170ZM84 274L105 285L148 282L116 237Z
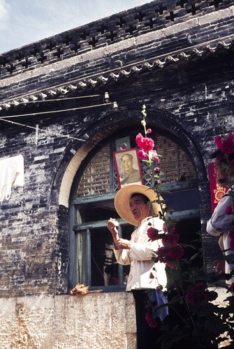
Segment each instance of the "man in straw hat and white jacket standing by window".
M166 287L165 265L152 261L152 253L161 246L161 239L149 241L147 236L150 226L159 232L163 230L163 221L157 216L152 217L152 212L158 214L160 210L160 205L153 202L155 199L156 193L147 186L140 184L124 186L115 196L115 209L124 221L137 228L133 231L131 239L126 240L119 238L117 230L119 223L115 219L110 218L107 225L112 234L117 261L122 265L131 265L126 291L133 292L136 302L138 349L154 348L157 336L156 328L149 327L145 319L145 302L148 300L146 291L157 289L156 297L160 304L166 302L161 292Z

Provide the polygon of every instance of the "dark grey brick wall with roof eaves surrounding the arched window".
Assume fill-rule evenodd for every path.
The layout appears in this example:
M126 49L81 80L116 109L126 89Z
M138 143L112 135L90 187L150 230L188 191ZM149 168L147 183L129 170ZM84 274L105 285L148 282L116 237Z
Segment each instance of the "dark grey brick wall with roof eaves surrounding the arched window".
M84 45L84 50L73 50L73 56L69 56L67 47L68 56L63 56L63 59L55 55L57 50L61 50L60 38L71 35L75 38L85 30L92 31L95 36L103 22L42 40L24 47L22 58L18 58L20 61L32 57L31 62L35 65L31 70L33 63L28 67L19 63L11 72L6 69L16 60L20 50L1 55L2 60L8 60L5 66L2 63L5 70L0 75L1 103L22 96L27 96L30 102L22 101L20 105L10 107L1 105L0 110L0 117L30 114L8 119L18 124L1 121L1 158L22 154L25 165L24 188L14 188L10 200L1 204L0 251L1 266L5 270L0 279L2 296L33 295L42 290L50 294L67 292L68 207L59 206L58 200L64 173L75 152L82 147L85 158L96 144L118 130L140 126L143 103L147 105L149 126L173 136L193 162L201 194L204 240L208 246L205 260L212 265L210 255L214 243L212 237L205 235L205 221L210 216L207 164L214 147L214 136L221 132L221 123L224 121L227 130L233 127L231 42L234 26L233 7L229 2L217 1L216 6L211 6L211 3L201 1L197 13L188 13L187 10L185 13L184 8L199 6L191 1L191 6L184 2L184 7L177 4L180 8L175 9L173 1L172 11L168 7L165 13L161 11L156 15L155 6L163 6L163 3L153 1L138 10L112 16L103 20L107 27L112 27L112 21L120 17L126 17L123 25L127 28L129 23L130 27L139 11L145 11L145 19L142 17L145 24L154 16L157 24L156 27L150 24L151 27L146 26L144 30L138 27L137 33L130 34L127 29L128 34L121 31L122 34L116 34L118 39L113 38L111 44L104 40L103 45L96 43L92 50L89 47L89 52ZM174 20L166 20L168 13L176 11L178 16ZM221 39L226 40L228 49L225 45L219 47ZM69 40L66 45L71 50L73 44ZM47 59L36 63L41 54L38 52L43 52L43 47L51 41L54 46L45 48ZM214 45L215 50L204 48L207 42ZM30 50L34 50L34 55ZM189 59L178 59L181 52L186 52ZM156 59L159 65L156 65ZM160 64L163 68L159 68ZM120 73L122 70L126 74ZM95 78L95 83L90 81L91 77ZM104 80L100 82L97 77ZM64 84L74 84L75 89L67 89L66 93L56 89L53 99L48 91ZM42 91L47 92L45 97L39 96ZM109 91L111 101L117 101L117 110L109 105L76 109L103 103L105 91ZM98 96L88 102L75 99L90 94ZM32 95L37 96L36 101L33 98L30 101ZM61 113L60 110L68 111ZM50 114L43 114L47 112ZM39 131L37 138L36 124L50 134ZM73 138L64 138L62 134ZM83 158L79 158L81 163ZM191 168L189 172L192 172Z

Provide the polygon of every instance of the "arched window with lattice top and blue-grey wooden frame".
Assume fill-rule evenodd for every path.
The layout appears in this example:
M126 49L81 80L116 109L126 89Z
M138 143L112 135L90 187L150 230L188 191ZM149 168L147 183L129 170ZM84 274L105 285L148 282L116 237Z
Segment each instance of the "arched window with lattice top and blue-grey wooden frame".
M82 162L71 191L70 209L70 263L69 288L78 283L106 292L125 290L129 267L117 264L112 252L112 236L106 228L109 218L120 223L119 235L130 239L133 226L122 221L114 207L115 193L119 189L113 152L119 150L122 140L127 147L136 147L138 130L113 136L98 144ZM193 220L197 230L200 219L198 211L198 188L193 163L182 147L163 134L154 136L156 150L161 155L160 167L163 186L170 193L164 199L183 221L184 230ZM140 163L142 173L145 163ZM149 183L145 183L149 185ZM195 221L194 221L195 220ZM196 227L196 228L195 228ZM194 231L195 233L195 231Z

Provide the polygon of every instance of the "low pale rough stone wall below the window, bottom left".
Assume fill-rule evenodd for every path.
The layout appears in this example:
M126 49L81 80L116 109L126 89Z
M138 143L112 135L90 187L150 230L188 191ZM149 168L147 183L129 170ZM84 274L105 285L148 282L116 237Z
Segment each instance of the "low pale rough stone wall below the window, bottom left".
M1 348L135 349L129 293L0 299Z

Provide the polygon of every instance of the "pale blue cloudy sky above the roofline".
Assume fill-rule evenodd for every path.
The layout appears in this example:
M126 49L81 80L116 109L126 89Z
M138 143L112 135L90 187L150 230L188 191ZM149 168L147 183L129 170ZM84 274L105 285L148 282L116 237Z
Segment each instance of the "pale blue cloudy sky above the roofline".
M0 0L0 54L152 0Z

